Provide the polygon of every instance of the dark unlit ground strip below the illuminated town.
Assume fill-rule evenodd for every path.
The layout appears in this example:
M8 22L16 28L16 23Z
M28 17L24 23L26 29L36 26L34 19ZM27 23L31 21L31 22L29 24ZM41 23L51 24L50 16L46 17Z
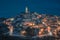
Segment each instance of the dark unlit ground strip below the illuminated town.
M60 38L55 38L52 36L48 36L48 37L21 37L21 36L0 36L0 40L60 40Z

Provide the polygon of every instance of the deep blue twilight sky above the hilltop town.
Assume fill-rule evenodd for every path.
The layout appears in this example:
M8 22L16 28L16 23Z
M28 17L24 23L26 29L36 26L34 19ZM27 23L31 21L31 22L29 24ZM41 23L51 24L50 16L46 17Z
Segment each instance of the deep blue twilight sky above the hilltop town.
M0 0L0 17L16 16L25 10L60 15L60 0Z

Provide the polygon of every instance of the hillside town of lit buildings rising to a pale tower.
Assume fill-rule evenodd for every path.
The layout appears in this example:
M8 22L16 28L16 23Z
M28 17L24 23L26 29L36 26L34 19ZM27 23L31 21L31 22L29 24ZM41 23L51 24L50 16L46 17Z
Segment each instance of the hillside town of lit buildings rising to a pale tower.
M4 24L8 25L10 35L58 36L57 32L60 31L60 23L58 22L60 20L58 19L58 16L30 12L26 7L25 12L6 19Z

